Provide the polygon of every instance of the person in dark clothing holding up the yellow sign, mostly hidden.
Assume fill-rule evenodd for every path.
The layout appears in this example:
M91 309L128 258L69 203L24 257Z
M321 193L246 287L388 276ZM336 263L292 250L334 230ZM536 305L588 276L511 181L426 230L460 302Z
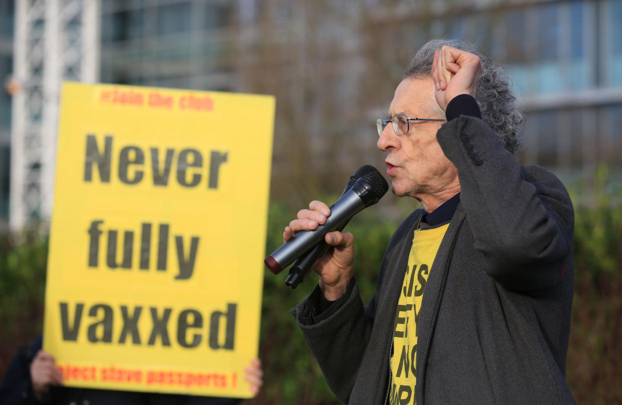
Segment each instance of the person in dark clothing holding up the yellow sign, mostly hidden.
M244 371L244 379L256 396L263 384L261 361L252 360ZM0 404L234 405L241 401L236 398L63 387L62 383L62 372L53 356L42 350L42 338L39 337L26 348L21 348L11 362L0 386Z

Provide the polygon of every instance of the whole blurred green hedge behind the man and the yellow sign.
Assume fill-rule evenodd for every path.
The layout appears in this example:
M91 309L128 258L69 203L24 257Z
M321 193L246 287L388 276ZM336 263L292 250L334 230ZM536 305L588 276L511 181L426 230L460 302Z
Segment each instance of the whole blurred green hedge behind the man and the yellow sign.
M567 379L578 403L622 403L622 203L619 193L603 191L605 177L601 169L593 208L575 207ZM584 195L580 187L573 193L576 198ZM267 253L281 245L282 229L295 212L285 203L271 202ZM366 210L348 225L356 235L356 274L365 302L373 294L384 247L397 226L378 212ZM26 234L19 246L0 236L0 378L16 347L41 333L47 238L37 235ZM289 314L315 287L317 276L312 274L295 290L285 287L285 277L265 272L260 356L266 383L259 397L246 404L338 404Z

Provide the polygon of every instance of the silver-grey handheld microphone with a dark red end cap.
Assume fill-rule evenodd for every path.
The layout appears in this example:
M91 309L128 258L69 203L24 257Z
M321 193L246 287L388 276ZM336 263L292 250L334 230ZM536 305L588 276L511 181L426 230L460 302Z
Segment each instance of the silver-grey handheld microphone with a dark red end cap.
M389 185L378 170L373 170L356 180L351 189L345 192L331 206L330 216L324 225L319 225L313 231L300 231L289 241L281 245L264 263L273 274L279 274L301 254L306 253L317 243L324 240L328 232L338 230L344 226L356 213L366 207L374 205L389 190Z

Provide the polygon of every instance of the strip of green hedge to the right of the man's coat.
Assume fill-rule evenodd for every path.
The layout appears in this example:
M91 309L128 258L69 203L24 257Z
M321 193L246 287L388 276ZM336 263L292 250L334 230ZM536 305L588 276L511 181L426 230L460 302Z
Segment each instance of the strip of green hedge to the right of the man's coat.
M593 208L575 204L575 296L566 378L578 404L622 403L622 202L605 192L607 169L593 191L578 187Z

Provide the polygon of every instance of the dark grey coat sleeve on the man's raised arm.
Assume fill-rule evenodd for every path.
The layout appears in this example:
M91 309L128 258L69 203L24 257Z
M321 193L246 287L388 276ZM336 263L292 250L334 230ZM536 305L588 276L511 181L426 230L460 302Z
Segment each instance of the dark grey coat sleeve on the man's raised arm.
M458 169L460 201L483 270L514 291L557 284L572 256L574 221L560 180L542 167L521 167L478 118L452 119L437 140Z

